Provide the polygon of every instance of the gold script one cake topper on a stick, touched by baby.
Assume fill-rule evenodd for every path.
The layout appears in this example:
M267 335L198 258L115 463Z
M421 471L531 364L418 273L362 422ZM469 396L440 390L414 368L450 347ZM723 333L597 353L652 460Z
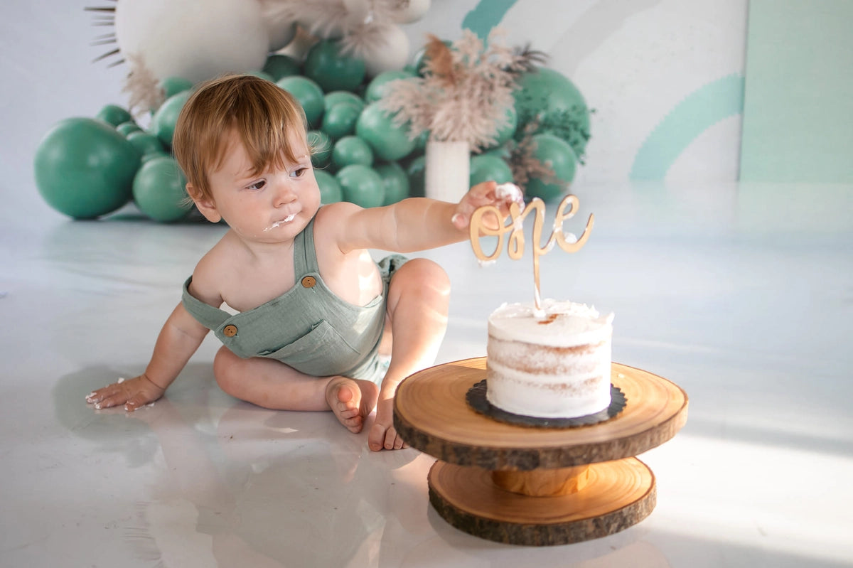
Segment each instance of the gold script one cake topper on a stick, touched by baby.
M498 191L515 191L520 195L519 188L511 183L502 183L498 186ZM501 213L496 206L479 207L471 216L471 246L474 254L481 262L496 260L501 256L503 248L504 235L509 233L507 244L507 253L509 258L518 260L524 254L525 249L525 233L523 221L530 212L533 214L533 283L534 292L533 299L536 304L536 310L542 311L542 297L539 293L539 257L547 254L554 248L554 245L560 245L560 248L566 252L577 252L586 244L589 239L589 232L595 223L595 215L590 213L587 219L586 227L583 229L583 234L579 238L574 238L574 235L563 233L563 223L566 219L571 219L577 212L578 200L575 195L566 195L566 198L560 202L560 207L557 209L557 215L554 217L554 229L551 231L551 236L548 237L548 242L542 245L542 226L543 217L545 216L545 204L538 197L533 198L527 206L522 209L517 202L513 202L509 206L509 223L501 222ZM483 217L491 215L493 220L484 222ZM488 218L488 217L487 217ZM491 254L485 254L482 246L480 246L481 236L496 236L497 244L495 250Z

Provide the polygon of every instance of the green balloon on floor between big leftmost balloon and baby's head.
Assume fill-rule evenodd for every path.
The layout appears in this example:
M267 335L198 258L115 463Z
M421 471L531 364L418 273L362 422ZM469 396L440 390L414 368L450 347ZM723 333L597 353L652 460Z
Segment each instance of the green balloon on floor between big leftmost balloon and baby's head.
M139 210L160 223L186 217L192 207L186 193L187 178L171 156L149 159L133 178L133 200Z

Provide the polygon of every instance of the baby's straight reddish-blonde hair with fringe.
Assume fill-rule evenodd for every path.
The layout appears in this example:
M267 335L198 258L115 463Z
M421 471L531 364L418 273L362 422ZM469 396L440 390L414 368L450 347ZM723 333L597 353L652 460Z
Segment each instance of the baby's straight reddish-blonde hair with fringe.
M288 136L296 134L308 147L305 112L286 90L252 75L206 81L183 105L172 140L195 199L212 200L209 173L222 166L232 130L252 161L252 175L270 165L283 168L285 159L298 161Z

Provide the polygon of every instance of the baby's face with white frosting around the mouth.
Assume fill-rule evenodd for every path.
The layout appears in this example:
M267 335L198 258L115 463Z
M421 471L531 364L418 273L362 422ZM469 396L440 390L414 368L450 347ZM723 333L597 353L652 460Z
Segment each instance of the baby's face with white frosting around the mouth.
M218 213L241 238L258 242L290 241L320 207L311 158L295 133L288 141L296 156L284 167L270 165L252 174L252 162L239 137L231 133L221 167L210 175Z

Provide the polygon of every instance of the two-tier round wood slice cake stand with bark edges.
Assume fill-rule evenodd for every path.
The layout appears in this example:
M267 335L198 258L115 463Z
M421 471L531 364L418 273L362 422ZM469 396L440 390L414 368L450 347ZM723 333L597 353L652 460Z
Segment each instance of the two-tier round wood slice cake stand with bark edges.
M688 397L669 380L612 363L627 398L592 426L529 427L478 414L467 391L485 379L485 357L427 368L403 380L394 426L438 458L427 477L432 507L474 536L533 546L612 535L655 506L652 471L635 455L676 435Z

